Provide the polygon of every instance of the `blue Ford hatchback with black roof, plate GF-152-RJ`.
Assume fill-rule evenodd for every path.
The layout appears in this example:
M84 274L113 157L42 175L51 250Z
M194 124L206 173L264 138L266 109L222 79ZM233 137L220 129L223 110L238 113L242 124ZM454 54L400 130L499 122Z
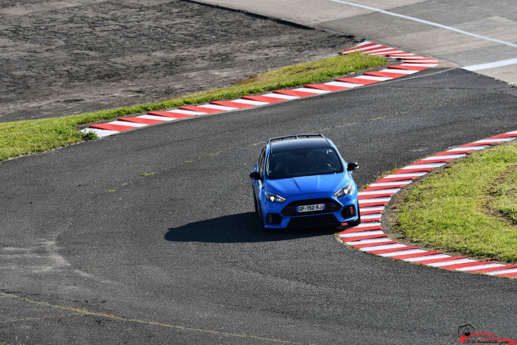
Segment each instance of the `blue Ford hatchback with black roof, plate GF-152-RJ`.
M322 134L271 138L250 173L255 213L265 230L361 222L356 162Z

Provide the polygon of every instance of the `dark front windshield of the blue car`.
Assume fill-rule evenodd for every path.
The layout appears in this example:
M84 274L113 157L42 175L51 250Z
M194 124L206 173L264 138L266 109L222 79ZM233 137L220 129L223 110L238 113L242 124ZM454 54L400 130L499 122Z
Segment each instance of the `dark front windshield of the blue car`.
M275 152L267 159L269 179L343 172L338 153L331 147Z

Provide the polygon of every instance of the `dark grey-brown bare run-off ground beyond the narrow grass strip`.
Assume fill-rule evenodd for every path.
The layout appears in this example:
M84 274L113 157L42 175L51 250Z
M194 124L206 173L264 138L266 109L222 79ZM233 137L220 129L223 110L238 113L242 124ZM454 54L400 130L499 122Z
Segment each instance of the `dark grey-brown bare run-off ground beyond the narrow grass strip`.
M3 0L0 122L229 86L350 44L343 35L181 0Z

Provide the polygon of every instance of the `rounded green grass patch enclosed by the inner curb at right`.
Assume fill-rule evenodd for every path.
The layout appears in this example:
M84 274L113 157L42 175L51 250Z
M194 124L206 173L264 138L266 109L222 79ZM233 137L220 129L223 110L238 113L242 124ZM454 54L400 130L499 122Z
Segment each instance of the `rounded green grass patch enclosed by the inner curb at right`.
M516 168L517 143L470 154L410 189L396 226L436 249L517 262Z

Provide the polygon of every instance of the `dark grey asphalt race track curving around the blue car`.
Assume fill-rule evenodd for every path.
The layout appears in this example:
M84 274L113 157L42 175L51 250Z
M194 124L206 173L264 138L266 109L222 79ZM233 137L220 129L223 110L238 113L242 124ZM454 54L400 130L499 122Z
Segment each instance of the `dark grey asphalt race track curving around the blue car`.
M0 340L453 344L466 323L516 338L515 280L379 258L332 231L264 233L248 178L267 138L321 132L363 185L515 130L514 91L433 68L1 162Z

